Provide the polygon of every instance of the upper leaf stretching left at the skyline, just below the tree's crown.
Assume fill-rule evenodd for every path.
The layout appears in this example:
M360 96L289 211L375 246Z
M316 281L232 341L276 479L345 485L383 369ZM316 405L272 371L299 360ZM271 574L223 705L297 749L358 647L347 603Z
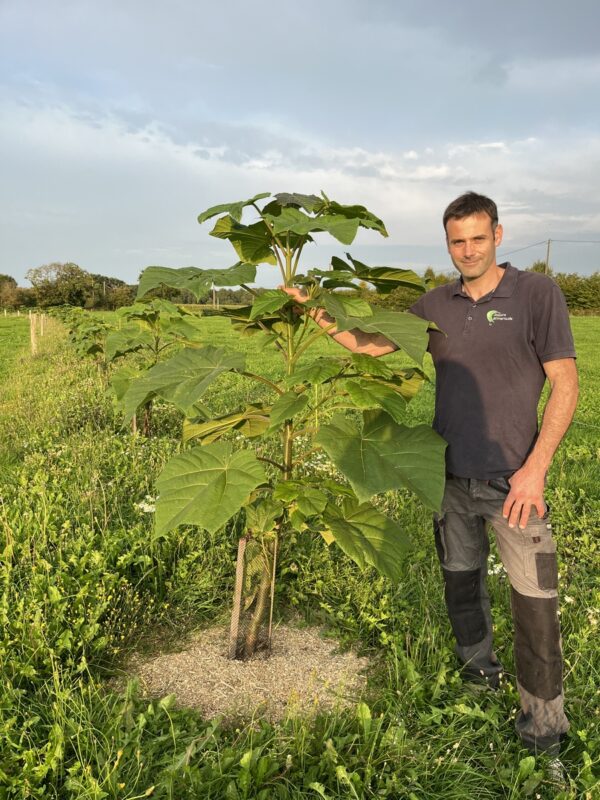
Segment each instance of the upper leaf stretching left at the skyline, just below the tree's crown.
M256 278L256 265L239 261L227 269L200 269L199 267L146 267L140 276L137 298L143 297L159 286L190 292L199 300L215 286L239 286L252 283Z

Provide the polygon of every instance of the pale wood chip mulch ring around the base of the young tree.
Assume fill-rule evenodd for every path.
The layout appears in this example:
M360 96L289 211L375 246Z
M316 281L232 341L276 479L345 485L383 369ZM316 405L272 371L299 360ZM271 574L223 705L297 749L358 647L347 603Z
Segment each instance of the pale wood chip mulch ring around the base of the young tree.
M127 665L144 694L174 694L180 707L224 720L260 716L314 716L354 705L366 686L369 660L340 653L337 642L316 628L281 625L273 632L271 655L248 661L227 658L229 630L220 626L193 634L179 652L135 654Z

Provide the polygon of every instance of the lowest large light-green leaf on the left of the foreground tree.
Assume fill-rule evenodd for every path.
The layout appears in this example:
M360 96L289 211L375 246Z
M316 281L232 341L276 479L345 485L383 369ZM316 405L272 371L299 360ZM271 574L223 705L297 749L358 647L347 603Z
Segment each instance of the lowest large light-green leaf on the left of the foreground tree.
M156 482L156 532L178 525L218 530L265 483L261 463L249 450L232 452L217 442L171 459Z

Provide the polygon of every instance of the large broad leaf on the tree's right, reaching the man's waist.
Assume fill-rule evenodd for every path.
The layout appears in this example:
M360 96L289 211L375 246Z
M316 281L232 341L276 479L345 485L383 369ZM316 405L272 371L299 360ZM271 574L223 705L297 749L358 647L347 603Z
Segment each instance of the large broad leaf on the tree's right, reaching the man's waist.
M407 487L439 511L444 492L446 442L428 425L398 425L383 411L363 412L363 428L337 414L315 442L350 481L362 502Z

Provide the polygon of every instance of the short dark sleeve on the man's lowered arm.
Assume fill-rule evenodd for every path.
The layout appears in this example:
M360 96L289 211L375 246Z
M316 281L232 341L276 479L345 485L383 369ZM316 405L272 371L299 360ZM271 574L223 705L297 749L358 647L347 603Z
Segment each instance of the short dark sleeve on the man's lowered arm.
M569 311L563 293L550 281L533 299L534 347L542 364L559 358L575 358Z

